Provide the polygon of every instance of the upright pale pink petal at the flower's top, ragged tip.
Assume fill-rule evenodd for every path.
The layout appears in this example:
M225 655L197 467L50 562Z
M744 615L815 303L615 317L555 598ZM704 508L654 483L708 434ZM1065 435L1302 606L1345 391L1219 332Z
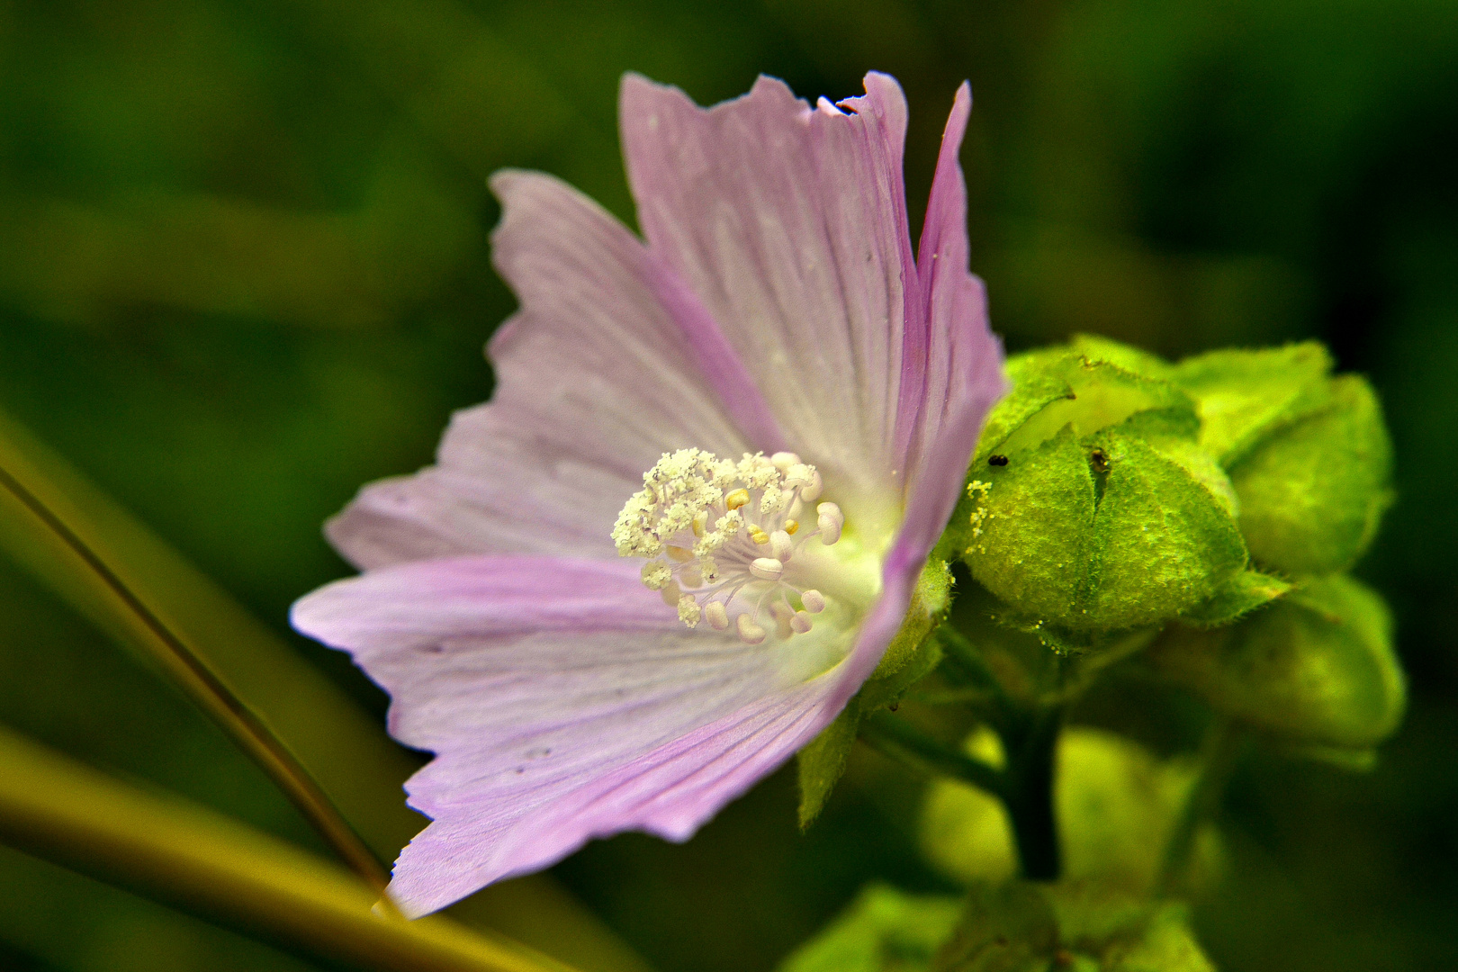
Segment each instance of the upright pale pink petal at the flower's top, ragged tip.
M783 82L710 109L636 74L621 125L639 223L719 322L790 444L827 478L900 493L905 101L811 108ZM917 303L913 300L913 303Z

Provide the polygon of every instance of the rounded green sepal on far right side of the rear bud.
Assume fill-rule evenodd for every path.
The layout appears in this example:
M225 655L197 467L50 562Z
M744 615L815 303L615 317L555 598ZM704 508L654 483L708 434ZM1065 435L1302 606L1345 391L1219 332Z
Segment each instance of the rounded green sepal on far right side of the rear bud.
M1356 375L1328 389L1325 408L1231 466L1251 557L1286 574L1352 567L1392 501L1392 446L1376 393Z

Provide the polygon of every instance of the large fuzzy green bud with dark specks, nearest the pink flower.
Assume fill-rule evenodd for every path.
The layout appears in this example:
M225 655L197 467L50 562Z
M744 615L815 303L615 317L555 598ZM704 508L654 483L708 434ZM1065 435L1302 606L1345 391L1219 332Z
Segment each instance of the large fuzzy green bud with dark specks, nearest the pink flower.
M1064 350L1009 373L958 538L1012 612L1056 638L1159 624L1245 568L1235 493L1188 395Z

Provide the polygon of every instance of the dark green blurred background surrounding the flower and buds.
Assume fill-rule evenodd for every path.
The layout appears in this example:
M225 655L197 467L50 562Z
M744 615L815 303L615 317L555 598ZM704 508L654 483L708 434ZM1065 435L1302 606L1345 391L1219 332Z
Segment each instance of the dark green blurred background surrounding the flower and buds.
M917 223L971 79L972 265L1009 348L1317 337L1372 376L1400 500L1360 573L1395 608L1411 711L1366 775L1251 759L1196 924L1229 971L1452 968L1452 0L3 1L0 408L378 717L382 694L286 611L347 573L324 517L490 395L481 347L513 300L487 173L545 169L631 224L624 70L709 103L761 71L849 96L869 68L911 102ZM1112 685L1085 717L1159 742L1145 695ZM7 557L0 724L319 847ZM946 887L914 853L921 787L857 752L806 836L781 772L688 845L623 836L555 873L663 972L770 969L872 877ZM0 848L0 968L321 966Z

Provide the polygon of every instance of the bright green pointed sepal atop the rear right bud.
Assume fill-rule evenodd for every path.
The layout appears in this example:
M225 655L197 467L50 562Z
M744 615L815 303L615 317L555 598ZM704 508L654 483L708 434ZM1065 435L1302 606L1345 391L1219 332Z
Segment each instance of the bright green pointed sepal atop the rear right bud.
M1200 404L1200 444L1229 468L1274 430L1330 401L1331 356L1317 341L1210 351L1168 377Z

